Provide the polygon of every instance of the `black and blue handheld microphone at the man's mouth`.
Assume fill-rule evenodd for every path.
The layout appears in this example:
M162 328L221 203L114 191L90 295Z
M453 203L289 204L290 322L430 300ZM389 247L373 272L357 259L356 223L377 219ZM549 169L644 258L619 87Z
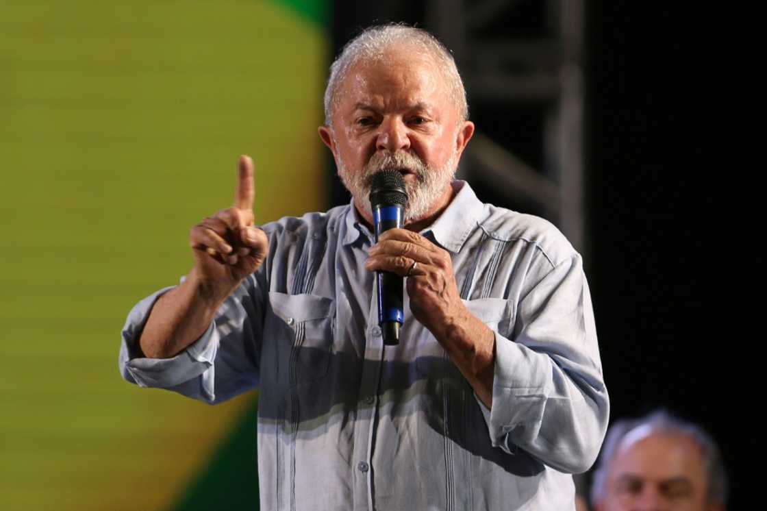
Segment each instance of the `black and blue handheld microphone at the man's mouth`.
M376 242L384 231L402 227L405 206L407 192L402 174L397 170L382 170L375 174L370 187L370 209L373 211ZM384 345L393 346L400 341L400 327L404 319L402 289L400 275L376 272L378 325L384 337Z

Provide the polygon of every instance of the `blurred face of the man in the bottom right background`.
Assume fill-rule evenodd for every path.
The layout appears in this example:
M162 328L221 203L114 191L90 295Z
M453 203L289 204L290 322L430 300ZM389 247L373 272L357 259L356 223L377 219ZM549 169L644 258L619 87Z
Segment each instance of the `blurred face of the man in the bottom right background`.
M627 437L607 473L597 511L708 511L700 447L683 434Z

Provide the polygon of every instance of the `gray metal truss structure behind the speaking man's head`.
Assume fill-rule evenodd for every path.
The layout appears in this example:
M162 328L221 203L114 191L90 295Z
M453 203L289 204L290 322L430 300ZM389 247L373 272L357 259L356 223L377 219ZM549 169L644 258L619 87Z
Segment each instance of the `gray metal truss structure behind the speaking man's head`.
M531 12L532 24L515 22ZM499 140L498 130L480 126L459 174L492 187L512 207L537 205L583 252L582 0L429 0L424 21L453 51L472 108L505 112L512 125L515 110L532 107L540 117L533 123L538 162L509 149L513 134Z

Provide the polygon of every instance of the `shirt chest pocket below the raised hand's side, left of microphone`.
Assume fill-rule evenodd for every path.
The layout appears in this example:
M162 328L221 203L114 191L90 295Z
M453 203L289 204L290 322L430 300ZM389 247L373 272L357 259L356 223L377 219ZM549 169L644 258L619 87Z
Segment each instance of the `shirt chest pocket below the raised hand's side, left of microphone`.
M281 364L291 385L317 381L328 374L334 340L335 303L319 295L269 292L275 315Z

